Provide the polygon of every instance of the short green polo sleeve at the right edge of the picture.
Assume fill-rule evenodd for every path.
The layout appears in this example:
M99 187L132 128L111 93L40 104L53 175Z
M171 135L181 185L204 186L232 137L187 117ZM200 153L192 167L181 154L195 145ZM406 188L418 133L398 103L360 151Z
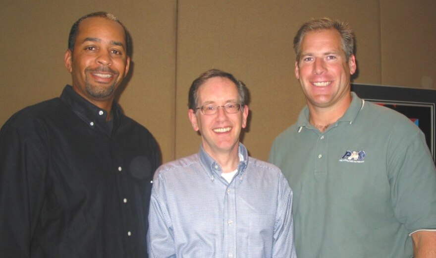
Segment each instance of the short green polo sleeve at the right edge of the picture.
M388 178L395 216L410 233L421 229L436 229L435 163L424 135L397 141L388 150Z

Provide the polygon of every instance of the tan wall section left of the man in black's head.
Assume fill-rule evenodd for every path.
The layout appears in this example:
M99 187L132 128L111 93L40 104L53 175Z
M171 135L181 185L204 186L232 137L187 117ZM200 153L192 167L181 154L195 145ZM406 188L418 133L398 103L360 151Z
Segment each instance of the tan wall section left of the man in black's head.
M59 96L71 81L63 55L73 19L68 20L69 13L47 7L45 3L2 1L1 125L23 107Z

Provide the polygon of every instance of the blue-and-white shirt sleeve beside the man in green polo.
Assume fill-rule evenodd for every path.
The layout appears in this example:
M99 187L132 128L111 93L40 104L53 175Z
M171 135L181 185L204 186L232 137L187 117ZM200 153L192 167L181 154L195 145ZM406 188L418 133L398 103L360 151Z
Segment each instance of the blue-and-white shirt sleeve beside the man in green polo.
M272 258L296 258L294 219L292 217L292 190L280 173L277 212L274 225Z

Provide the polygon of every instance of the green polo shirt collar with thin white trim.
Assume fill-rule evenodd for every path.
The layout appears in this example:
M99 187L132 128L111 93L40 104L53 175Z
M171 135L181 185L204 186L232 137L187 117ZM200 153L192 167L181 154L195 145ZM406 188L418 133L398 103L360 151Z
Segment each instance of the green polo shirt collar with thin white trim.
M351 97L352 99L350 106L348 107L345 114L341 118L339 118L338 121L336 121L336 125L339 122L348 122L350 125L353 124L357 118L357 115L359 115L359 112L364 107L365 101L359 98L356 93L351 92ZM296 129L298 131L301 131L302 128L312 127L312 125L309 123L309 108L307 105L300 112L296 125Z

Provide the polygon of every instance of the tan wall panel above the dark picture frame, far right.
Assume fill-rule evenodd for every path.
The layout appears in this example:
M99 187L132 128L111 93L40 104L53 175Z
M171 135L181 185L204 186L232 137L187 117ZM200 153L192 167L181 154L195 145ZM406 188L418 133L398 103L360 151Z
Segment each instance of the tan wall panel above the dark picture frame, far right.
M382 83L436 89L436 1L381 1Z

